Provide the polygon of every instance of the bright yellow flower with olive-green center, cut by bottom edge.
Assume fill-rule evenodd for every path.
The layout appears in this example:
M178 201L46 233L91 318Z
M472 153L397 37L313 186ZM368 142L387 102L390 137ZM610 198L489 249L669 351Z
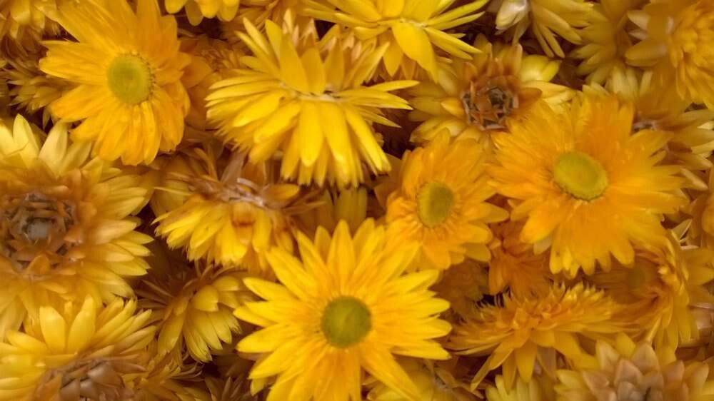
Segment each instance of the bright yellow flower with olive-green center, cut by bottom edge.
M268 400L361 400L362 369L402 397L419 390L393 355L445 360L438 342L451 325L436 318L448 303L428 287L436 270L403 275L416 248L389 242L366 220L352 237L347 223L315 242L298 234L302 262L279 248L268 253L281 284L246 278L266 299L236 309L263 327L238 342L239 352L262 352L252 380L277 375ZM315 386L314 383L321 385Z

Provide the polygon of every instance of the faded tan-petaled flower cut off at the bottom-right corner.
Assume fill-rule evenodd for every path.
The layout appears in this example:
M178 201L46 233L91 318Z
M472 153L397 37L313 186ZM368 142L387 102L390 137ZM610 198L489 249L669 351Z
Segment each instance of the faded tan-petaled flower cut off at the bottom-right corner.
M709 366L677 360L673 349L656 352L618 335L615 346L598 341L596 364L587 370L559 370L558 401L707 401L714 397Z

